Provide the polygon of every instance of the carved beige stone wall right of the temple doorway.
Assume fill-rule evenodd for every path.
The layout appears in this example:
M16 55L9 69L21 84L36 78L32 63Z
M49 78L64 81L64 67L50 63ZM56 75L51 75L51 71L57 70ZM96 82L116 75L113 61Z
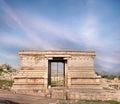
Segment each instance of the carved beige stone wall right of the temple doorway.
M94 71L95 55L72 55L68 60L69 88L100 88L100 77Z

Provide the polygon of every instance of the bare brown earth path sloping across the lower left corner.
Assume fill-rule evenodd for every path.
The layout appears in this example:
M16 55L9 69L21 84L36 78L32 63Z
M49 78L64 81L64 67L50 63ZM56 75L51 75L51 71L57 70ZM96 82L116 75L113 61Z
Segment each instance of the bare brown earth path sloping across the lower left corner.
M5 90L0 90L0 100L10 100L19 104L60 104L56 99L14 94Z

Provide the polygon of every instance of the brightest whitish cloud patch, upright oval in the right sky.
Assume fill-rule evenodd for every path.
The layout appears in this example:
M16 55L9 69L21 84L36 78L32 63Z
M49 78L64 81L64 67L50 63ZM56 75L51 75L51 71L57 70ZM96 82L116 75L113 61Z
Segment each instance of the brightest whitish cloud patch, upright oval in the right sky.
M94 15L88 16L85 21L84 25L82 26L82 29L80 31L80 34L82 34L82 40L84 41L84 44L86 44L88 47L95 46L97 44L100 44L97 37L97 29L98 29L99 22L97 20L97 17Z

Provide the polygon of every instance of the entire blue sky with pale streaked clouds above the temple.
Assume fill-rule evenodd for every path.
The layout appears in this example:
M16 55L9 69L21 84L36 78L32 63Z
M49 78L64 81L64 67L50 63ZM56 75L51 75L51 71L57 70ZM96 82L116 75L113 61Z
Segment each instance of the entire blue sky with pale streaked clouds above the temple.
M95 68L120 71L120 0L0 0L0 64L20 50L96 51Z

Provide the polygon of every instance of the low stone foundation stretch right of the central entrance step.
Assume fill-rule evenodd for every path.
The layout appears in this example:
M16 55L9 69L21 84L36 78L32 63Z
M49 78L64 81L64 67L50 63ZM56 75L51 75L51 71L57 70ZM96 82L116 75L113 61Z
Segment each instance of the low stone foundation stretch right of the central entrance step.
M70 91L67 95L70 100L114 100L120 101L120 92L117 91Z

